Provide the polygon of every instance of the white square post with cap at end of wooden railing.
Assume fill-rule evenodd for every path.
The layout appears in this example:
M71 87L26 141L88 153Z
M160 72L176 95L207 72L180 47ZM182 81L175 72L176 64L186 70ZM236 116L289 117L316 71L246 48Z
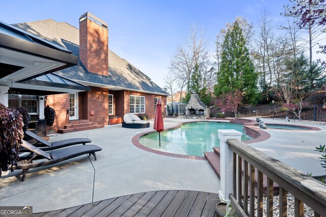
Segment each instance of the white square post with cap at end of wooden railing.
M221 199L229 199L229 194L233 192L233 151L229 149L228 139L238 139L241 141L241 135L236 130L218 130L221 151Z

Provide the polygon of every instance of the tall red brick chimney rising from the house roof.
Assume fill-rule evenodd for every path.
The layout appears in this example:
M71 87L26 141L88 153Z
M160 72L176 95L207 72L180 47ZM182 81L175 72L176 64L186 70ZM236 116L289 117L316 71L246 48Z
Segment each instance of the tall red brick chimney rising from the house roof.
M108 76L107 24L89 12L79 18L79 58L89 72Z

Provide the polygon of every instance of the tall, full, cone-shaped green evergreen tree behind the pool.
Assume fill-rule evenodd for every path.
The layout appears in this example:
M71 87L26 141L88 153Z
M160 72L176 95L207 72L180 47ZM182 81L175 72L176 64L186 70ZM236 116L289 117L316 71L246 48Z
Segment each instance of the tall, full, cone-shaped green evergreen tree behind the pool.
M218 84L214 94L218 97L227 92L240 90L244 103L256 104L258 74L249 56L246 41L238 21L227 30L222 45L221 66L218 73Z

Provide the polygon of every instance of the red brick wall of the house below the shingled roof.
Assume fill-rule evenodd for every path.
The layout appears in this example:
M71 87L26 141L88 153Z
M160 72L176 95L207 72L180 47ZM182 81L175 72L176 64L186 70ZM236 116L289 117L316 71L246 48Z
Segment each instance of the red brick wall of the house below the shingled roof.
M155 116L155 98L161 98L162 112L166 113L166 96L146 94L130 90L108 90L106 88L91 87L90 91L78 92L78 119L86 119L98 122L100 125L108 125L108 94L113 94L114 114L110 116L121 116L130 112L130 95L145 97L145 113L150 119ZM45 106L49 105L56 111L56 119L53 129L63 128L69 124L69 94L47 96ZM94 112L94 115L91 112ZM123 121L123 119L122 119Z

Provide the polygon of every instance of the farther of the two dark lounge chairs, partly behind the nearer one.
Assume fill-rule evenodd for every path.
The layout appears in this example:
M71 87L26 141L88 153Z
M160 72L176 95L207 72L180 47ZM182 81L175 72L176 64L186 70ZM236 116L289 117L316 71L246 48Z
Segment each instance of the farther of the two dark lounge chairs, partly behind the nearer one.
M25 133L26 133L26 135L35 139L37 142L33 145L36 147L39 147L43 151L55 150L55 149L67 147L70 145L77 145L77 144L85 145L86 143L92 142L92 140L90 140L88 138L74 138L74 139L60 140L57 142L48 142L45 139L43 139L42 137L36 135L35 133L33 133L31 131L26 131ZM29 152L29 150L26 148L20 148L20 152Z

